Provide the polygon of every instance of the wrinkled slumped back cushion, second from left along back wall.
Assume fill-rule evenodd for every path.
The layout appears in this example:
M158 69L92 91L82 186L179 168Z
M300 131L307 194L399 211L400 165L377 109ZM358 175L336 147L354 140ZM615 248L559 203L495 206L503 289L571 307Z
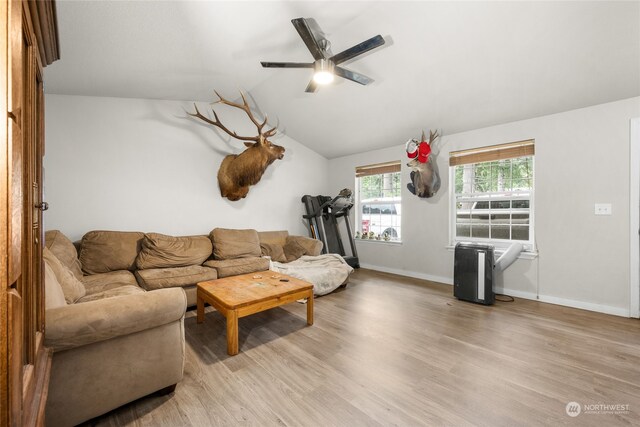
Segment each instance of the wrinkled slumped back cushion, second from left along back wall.
M201 265L213 251L207 236L173 237L147 233L136 259L139 269L186 267Z

